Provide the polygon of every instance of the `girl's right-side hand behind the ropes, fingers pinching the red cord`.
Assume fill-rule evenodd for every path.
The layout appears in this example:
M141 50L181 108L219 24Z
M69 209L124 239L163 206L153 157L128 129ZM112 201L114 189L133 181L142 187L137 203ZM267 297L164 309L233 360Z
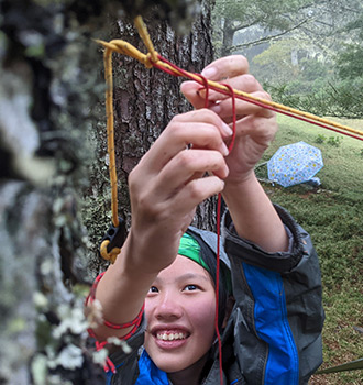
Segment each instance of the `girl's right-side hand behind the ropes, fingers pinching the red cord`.
M227 56L208 65L202 75L209 80L228 84L255 97L271 100L260 82L250 74L249 63L240 55ZM195 81L185 81L182 92L196 108L205 107L205 87ZM232 98L209 90L209 109L219 114L232 128ZM275 136L277 123L275 112L235 98L237 135L234 146L227 157L229 176L227 186L239 184L253 175L256 163ZM229 143L227 143L229 144ZM227 187L226 186L226 187Z

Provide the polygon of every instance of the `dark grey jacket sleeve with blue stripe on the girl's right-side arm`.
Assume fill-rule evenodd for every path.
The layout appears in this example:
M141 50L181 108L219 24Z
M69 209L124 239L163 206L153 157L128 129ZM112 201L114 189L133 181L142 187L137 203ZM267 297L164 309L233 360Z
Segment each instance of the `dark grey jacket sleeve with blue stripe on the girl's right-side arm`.
M241 239L224 216L237 300L227 329L249 384L307 384L322 362L319 261L309 234L286 210L275 209L293 238L288 252L267 253Z

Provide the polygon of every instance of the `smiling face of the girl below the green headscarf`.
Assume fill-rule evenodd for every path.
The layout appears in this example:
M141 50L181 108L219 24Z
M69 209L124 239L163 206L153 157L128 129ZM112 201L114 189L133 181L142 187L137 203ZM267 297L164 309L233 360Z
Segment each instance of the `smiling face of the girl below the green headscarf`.
M215 340L216 293L208 272L178 255L156 277L145 301L144 346L162 371L195 364Z

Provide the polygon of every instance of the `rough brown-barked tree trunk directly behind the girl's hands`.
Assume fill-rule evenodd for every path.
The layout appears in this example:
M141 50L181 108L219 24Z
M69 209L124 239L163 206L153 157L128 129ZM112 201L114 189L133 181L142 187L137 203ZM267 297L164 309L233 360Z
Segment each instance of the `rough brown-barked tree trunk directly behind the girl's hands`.
M155 50L168 61L190 72L201 69L212 61L212 45L210 25L210 1L204 1L202 14L193 24L193 31L187 36L178 36L165 22L151 15L144 18ZM121 20L118 22L111 38L122 38L140 51L146 52L143 42L132 24ZM114 119L116 119L116 157L119 178L119 213L130 226L130 200L128 195L128 176L132 168L157 139L170 119L180 112L190 110L190 105L179 91L184 79L173 77L158 69L147 69L133 58L113 54L114 74ZM107 172L100 179L98 172L105 169L106 129L98 133L100 146L95 167L92 188L94 197L101 195L109 197ZM145 180L147 183L147 180ZM213 230L216 228L216 198L204 202L197 209L195 224ZM94 206L92 199L89 206ZM103 206L105 230L110 224L110 204ZM98 218L98 219L97 219ZM98 221L100 211L96 210L89 218L89 227ZM99 230L99 228L97 228ZM95 233L100 237L101 233Z

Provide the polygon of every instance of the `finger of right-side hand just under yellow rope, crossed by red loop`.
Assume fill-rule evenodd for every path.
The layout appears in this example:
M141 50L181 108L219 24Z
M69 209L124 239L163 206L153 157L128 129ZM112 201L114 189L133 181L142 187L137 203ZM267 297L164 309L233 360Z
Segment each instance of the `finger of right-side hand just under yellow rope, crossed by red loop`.
M264 100L271 100L270 95L264 91L257 91L251 95ZM233 118L233 106L232 106L231 98L222 100L219 103L209 107L209 109L216 112L220 118L222 118L228 122L230 122ZM274 116L274 112L271 109L264 108L253 102L235 98L235 114L237 116L255 114L260 117L270 118Z

